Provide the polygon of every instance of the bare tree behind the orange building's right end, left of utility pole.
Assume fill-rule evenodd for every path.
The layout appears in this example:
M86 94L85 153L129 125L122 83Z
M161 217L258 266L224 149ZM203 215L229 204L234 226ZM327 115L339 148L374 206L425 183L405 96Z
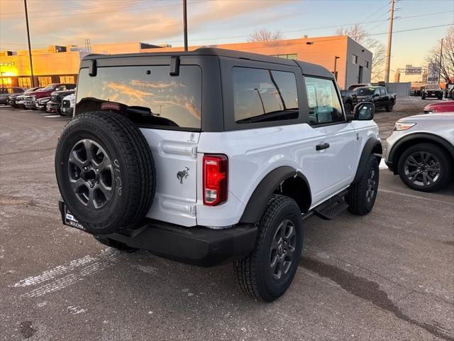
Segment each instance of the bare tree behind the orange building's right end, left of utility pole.
M349 28L338 28L336 30L338 36L349 36L357 43L363 45L367 50L372 52L372 81L380 81L384 79L384 63L386 61L386 48L379 40L369 38L367 31L359 23Z

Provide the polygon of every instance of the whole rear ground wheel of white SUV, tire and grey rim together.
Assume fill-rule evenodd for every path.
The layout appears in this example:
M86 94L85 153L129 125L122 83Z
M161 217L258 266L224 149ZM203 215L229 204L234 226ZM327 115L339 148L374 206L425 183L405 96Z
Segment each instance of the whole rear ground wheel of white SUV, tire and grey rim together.
M272 195L258 226L255 248L236 262L240 288L248 296L275 301L297 273L303 244L301 211L292 198Z

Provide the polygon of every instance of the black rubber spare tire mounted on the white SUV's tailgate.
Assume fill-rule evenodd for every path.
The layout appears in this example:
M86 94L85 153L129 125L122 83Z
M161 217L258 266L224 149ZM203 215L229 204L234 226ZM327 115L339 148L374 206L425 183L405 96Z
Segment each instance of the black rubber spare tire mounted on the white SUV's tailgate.
M84 144L81 141L101 146L109 156L107 161L111 162L108 168L111 197L97 208L92 205L93 200L82 202L82 196L72 187L74 179L70 180L70 166L74 163L70 163L69 156L77 144ZM87 156L85 162L88 161ZM95 167L92 163L89 166ZM85 231L94 234L109 234L137 226L150 209L155 195L155 164L150 147L137 126L115 112L86 112L65 126L55 151L55 173L68 209ZM82 178L82 170L79 173ZM80 186L79 190L90 190L86 184L85 187Z

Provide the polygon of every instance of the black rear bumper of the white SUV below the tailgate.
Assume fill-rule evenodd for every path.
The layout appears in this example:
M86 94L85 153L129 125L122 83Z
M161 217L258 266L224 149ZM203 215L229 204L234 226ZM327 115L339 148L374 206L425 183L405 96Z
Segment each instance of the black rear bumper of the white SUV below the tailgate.
M63 224L67 224L65 202L62 200L59 208ZM211 267L250 254L257 231L253 225L209 229L145 220L138 229L124 229L121 233L104 234L102 237L181 263Z

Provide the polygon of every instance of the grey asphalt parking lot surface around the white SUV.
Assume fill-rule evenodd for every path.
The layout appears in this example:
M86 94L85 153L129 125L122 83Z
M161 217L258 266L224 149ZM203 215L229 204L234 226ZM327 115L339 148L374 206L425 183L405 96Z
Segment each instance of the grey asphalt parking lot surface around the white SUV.
M382 139L428 102L377 111ZM259 303L231 265L123 254L64 227L67 120L0 107L0 340L454 340L453 184L419 193L382 169L371 214L306 220L294 283Z

